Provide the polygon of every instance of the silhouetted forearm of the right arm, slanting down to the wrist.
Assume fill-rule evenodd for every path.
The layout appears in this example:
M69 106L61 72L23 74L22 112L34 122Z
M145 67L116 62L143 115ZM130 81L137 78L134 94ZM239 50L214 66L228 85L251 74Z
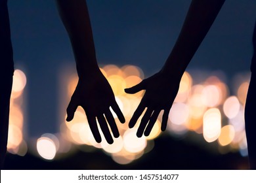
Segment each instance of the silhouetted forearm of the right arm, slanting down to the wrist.
M163 73L182 76L213 24L224 0L193 0L181 33L165 65Z

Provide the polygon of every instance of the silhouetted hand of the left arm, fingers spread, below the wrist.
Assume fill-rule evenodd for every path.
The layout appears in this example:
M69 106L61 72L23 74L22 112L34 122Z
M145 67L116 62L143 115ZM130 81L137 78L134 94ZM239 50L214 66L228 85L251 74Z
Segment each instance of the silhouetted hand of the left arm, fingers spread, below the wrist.
M88 78L79 78L77 87L75 88L75 92L67 108L68 117L66 120L68 122L74 118L74 113L78 106L83 107L85 110L89 126L96 142L101 142L96 118L109 144L114 142L110 129L114 137L119 137L119 131L112 112L110 111L110 107L116 112L117 118L119 118L121 123L125 122L125 117L116 103L114 93L108 80L106 80L102 73L97 73Z

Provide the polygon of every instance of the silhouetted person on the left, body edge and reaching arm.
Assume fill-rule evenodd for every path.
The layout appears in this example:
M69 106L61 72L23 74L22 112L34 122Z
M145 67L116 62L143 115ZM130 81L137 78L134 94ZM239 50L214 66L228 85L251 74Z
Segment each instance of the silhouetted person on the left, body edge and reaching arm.
M119 137L119 131L110 107L116 112L121 123L125 122L125 117L116 103L108 80L98 67L86 1L56 0L56 5L72 43L79 77L67 108L66 120L70 122L74 118L76 108L83 107L96 142L102 141L97 120L106 141L112 144L114 141L110 130L116 138ZM0 58L0 160L1 169L3 169L7 151L9 107L14 73L7 0L0 0Z

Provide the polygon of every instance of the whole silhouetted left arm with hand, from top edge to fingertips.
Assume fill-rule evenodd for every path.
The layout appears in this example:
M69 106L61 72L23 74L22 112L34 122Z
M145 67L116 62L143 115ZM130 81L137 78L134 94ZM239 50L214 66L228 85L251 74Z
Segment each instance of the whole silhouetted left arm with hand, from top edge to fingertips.
M114 137L119 137L119 132L110 107L116 112L120 122L125 122L125 118L116 103L110 84L100 72L96 62L93 32L86 2L56 0L56 3L72 43L79 76L77 87L67 108L66 120L70 122L74 118L76 108L83 107L96 142L101 142L96 124L98 120L106 141L112 144L113 139L108 124Z

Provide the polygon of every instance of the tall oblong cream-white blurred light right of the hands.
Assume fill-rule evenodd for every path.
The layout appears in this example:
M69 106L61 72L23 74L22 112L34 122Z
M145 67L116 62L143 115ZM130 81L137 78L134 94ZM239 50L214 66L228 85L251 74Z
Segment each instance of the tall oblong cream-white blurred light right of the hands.
M213 142L221 134L221 112L218 108L210 108L203 115L203 137L207 142Z

